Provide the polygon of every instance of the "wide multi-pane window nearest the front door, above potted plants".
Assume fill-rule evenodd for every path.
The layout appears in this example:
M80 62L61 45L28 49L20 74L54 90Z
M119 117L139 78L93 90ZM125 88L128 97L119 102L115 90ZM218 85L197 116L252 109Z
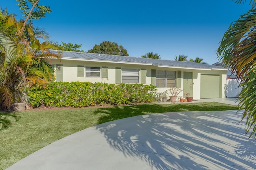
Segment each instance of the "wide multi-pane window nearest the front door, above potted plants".
M175 87L176 72L156 70L156 87Z

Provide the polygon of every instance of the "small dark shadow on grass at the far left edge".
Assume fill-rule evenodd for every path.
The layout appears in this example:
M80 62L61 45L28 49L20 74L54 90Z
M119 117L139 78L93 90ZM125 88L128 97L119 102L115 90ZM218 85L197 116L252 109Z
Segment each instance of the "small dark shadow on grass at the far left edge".
M7 129L12 121L18 121L20 115L18 113L0 112L0 130Z

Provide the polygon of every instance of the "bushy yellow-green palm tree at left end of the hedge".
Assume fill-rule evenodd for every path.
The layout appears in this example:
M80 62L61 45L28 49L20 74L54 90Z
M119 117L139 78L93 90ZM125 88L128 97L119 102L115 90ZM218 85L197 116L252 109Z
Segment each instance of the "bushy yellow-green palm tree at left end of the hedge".
M55 44L32 22L26 24L21 34L23 22L0 11L0 107L9 111L13 102L24 102L27 84L54 80L54 69L45 59L60 57L50 52ZM44 42L40 43L39 38Z

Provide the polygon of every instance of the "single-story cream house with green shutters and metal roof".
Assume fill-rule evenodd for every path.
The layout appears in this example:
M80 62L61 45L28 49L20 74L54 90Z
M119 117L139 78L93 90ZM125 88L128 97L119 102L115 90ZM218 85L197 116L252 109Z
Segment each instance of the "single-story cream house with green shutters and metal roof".
M62 60L51 64L56 81L153 84L158 92L175 86L183 89L179 96L187 92L195 100L225 98L227 70L222 66L73 51L63 51Z

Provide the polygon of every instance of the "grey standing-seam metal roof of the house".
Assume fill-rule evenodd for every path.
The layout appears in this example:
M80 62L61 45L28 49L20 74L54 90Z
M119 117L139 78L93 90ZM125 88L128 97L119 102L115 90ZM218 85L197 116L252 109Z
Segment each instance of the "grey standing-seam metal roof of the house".
M57 53L56 50L52 50ZM200 70L227 70L222 66L215 66L202 63L194 63L188 61L171 61L162 59L148 59L140 57L126 57L120 55L107 55L96 53L82 53L75 51L62 51L62 60L77 60L77 61L94 61L103 63L124 63L124 64L140 64L151 65L167 68L185 68L185 69L200 69Z

